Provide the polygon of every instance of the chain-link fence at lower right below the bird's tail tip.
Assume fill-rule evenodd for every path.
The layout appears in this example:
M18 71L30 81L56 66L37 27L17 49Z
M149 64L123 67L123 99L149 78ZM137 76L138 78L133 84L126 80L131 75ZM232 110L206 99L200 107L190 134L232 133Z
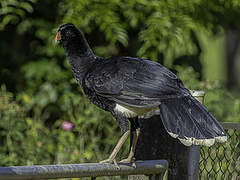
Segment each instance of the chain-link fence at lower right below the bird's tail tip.
M228 141L201 147L199 180L240 180L240 123L222 123Z

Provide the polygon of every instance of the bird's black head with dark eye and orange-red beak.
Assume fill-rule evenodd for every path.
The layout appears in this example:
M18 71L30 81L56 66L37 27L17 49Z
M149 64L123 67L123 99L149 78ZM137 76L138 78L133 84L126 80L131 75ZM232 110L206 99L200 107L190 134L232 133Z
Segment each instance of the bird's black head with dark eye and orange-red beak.
M59 27L55 40L62 44L76 39L79 34L79 30L72 23L67 23Z

